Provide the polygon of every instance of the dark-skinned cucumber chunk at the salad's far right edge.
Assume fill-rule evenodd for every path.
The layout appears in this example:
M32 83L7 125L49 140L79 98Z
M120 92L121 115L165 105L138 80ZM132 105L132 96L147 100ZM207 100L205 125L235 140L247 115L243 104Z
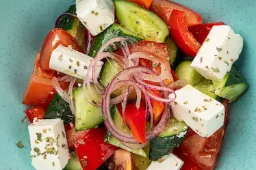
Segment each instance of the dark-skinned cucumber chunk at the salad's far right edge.
M223 81L214 81L214 89L217 96L225 98L229 102L235 102L248 89L248 84L238 68L232 66Z

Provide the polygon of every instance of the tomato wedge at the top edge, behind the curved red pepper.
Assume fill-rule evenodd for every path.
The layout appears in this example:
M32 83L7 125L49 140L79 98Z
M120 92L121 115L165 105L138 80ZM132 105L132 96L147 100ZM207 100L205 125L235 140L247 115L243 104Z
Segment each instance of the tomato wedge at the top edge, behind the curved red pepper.
M168 21L170 20L172 10L185 12L185 22L188 26L201 24L203 22L201 14L198 14L192 11L190 8L180 5L179 3L175 3L169 0L154 0L151 6L151 10L155 12L155 14L157 14L160 18L162 18L166 24L168 24Z

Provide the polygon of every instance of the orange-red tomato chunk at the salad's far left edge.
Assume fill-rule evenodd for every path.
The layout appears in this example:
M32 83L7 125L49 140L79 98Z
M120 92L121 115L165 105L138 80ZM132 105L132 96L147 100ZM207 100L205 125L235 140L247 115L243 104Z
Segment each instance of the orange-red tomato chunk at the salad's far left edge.
M38 74L31 74L23 96L23 104L48 107L54 94L55 89L53 89L51 79L38 76Z

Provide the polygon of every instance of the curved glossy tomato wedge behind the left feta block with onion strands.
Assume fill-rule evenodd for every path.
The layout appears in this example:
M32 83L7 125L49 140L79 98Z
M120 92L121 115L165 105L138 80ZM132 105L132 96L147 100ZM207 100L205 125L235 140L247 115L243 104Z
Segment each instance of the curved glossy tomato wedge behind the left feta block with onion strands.
M64 46L71 45L72 48L74 48L75 50L81 51L79 44L77 43L75 38L71 36L71 34L67 33L63 29L59 29L59 28L52 29L48 33L48 35L44 39L44 43L42 44L40 63L43 70L48 70L48 71L51 70L49 68L51 53L60 44Z

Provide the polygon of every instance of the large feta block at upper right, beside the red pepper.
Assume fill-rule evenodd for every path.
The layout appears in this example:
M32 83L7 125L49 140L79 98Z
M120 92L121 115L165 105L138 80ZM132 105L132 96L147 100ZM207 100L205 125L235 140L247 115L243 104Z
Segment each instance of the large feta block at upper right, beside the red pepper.
M243 38L227 25L212 27L191 66L206 79L225 78L243 48Z

